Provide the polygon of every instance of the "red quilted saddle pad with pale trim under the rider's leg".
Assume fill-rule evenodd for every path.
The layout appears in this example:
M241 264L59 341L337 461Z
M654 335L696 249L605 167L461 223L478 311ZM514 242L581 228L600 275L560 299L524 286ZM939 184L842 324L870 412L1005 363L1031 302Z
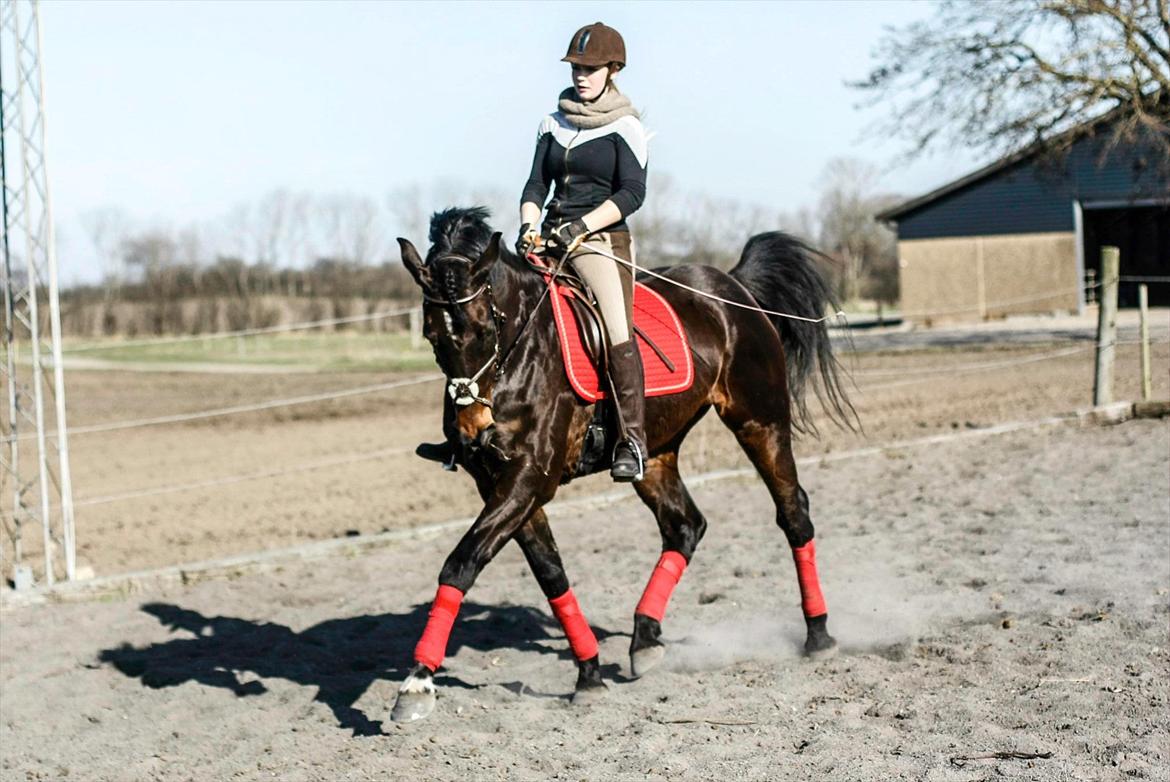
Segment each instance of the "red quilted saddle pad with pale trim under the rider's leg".
M560 337L560 356L573 391L586 402L597 402L605 399L607 395L598 378L597 365L585 350L580 324L566 301L573 295L572 289L552 283L550 299L557 320L557 334ZM638 339L642 368L646 370L646 396L662 397L689 389L695 382L695 364L691 361L690 344L687 342L682 322L666 299L640 282L634 283L634 324L645 331L674 364L672 371L645 339L640 336L634 337Z

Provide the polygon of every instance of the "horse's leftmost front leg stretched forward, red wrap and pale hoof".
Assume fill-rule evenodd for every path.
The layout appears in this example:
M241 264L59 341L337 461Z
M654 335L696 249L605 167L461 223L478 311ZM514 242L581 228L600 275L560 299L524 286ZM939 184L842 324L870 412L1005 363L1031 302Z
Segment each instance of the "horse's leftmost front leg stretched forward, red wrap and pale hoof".
M463 596L504 543L548 501L548 475L528 461L501 475L475 523L447 556L427 625L414 647L415 666L399 687L391 712L395 722L419 720L434 709L434 672L447 654Z

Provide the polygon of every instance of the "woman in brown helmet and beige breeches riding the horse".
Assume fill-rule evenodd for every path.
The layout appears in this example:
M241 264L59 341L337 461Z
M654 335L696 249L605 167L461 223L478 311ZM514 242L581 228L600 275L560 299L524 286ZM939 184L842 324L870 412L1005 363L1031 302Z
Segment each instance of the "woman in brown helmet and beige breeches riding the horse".
M610 474L638 481L646 459L642 362L633 338L634 273L589 245L634 261L628 218L646 196L646 131L613 77L626 67L626 43L601 22L573 34L562 62L572 87L541 122L532 171L521 196L521 256L539 239L560 247L597 299L610 342L610 385L621 428ZM544 222L541 207L555 185ZM589 242L583 247L585 242Z

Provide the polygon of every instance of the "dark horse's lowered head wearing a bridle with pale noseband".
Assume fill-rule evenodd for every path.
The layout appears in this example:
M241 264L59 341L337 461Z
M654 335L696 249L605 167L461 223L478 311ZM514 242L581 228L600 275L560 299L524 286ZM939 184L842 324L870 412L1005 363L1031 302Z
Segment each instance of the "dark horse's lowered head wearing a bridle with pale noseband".
M501 314L491 291L500 233L490 232L486 218L481 208L435 214L425 261L413 243L398 240L402 265L422 288L422 332L448 378L447 391L460 409L460 430L469 438L491 423L491 386L501 350Z

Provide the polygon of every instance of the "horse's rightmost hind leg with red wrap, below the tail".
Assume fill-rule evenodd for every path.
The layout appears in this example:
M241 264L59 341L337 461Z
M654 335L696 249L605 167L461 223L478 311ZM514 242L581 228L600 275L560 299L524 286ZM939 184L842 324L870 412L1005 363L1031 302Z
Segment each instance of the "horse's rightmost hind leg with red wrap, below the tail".
M783 392L783 380L778 386L772 384L771 387L779 387ZM728 398L756 400L752 410L745 403L728 402L718 410L720 418L735 433L776 502L776 523L789 539L796 561L800 608L807 627L805 653L830 653L835 650L837 642L828 634L828 610L817 576L817 549L808 516L808 495L797 480L789 411L786 405L776 410L770 399L760 400L750 392L738 397L729 393Z

